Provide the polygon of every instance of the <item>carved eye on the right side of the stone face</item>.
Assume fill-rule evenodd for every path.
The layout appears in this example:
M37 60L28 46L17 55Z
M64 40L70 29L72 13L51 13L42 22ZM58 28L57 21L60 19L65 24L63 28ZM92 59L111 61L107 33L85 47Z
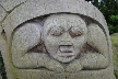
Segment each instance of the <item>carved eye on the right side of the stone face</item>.
M69 33L72 37L76 37L76 36L81 36L82 35L82 31L79 27L71 27L69 30Z

